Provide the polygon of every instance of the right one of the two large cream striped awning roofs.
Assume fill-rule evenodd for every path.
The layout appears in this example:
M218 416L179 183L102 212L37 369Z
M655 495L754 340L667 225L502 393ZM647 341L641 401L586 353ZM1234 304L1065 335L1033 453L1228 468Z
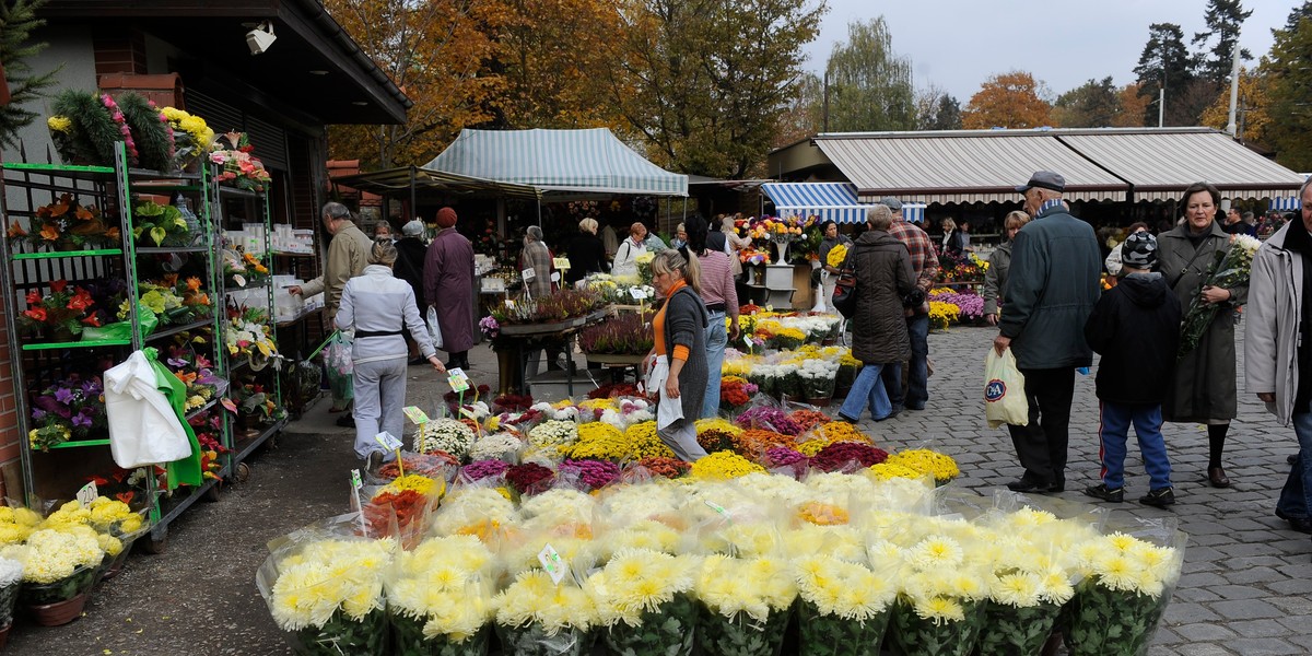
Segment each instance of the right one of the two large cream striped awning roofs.
M1283 192L1303 184L1299 173L1215 130L1054 136L1132 184L1136 201L1178 199L1186 186L1199 181L1216 185L1225 198L1286 195Z

